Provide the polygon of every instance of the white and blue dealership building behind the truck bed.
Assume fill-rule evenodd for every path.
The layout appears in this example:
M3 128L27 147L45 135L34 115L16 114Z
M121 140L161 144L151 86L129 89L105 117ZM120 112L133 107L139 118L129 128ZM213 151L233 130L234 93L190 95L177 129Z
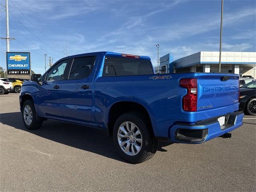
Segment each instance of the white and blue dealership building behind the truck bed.
M160 66L155 72L218 72L219 54L216 51L200 51L198 53L173 60L171 54L160 57ZM221 52L221 72L235 73L240 76L250 75L256 78L256 52Z

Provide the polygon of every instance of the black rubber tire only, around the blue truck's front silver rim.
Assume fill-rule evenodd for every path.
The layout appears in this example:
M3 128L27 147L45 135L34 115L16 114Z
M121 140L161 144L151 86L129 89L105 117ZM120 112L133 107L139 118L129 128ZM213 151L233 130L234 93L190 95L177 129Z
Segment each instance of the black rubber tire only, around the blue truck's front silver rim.
M24 120L24 108L27 105L31 108L31 111L32 111L32 122L31 122L31 124L26 124L26 122ZM36 110L34 108L34 104L33 104L32 100L26 100L24 102L23 106L22 106L22 121L23 121L25 127L29 130L39 129L42 126L43 121L41 121L41 120L38 121L36 119Z

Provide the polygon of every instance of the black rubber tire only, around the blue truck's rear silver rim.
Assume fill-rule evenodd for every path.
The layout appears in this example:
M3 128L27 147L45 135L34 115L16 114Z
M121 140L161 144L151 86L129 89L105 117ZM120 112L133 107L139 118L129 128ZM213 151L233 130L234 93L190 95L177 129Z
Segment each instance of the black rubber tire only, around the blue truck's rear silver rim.
M118 129L124 122L134 123L140 130L142 136L140 151L138 152L138 154L133 156L126 154L118 143ZM151 124L148 122L148 120L146 120L146 118L136 112L129 112L123 114L116 120L113 129L113 139L114 144L122 158L132 164L142 163L150 159L156 153L158 145L158 141L155 139L154 134L151 130Z

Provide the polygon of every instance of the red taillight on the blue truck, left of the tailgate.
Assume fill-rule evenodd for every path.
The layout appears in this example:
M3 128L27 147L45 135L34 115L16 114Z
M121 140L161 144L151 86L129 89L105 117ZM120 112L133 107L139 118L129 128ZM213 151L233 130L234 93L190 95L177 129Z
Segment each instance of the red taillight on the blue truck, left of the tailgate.
M182 98L184 111L194 112L197 109L197 79L181 79L180 86L185 87L188 93Z

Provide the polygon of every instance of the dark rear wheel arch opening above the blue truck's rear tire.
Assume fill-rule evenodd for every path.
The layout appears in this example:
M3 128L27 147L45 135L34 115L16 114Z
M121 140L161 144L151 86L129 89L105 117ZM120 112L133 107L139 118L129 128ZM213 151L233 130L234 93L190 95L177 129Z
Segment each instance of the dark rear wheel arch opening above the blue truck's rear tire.
M143 104L134 101L119 101L112 104L110 110L108 111L106 122L109 136L112 136L113 134L113 127L117 118L120 117L122 114L128 112L139 112L139 114L141 114L144 118L146 118L146 120L148 120L148 123L150 125L150 131L152 131L152 133L154 134L150 113Z

